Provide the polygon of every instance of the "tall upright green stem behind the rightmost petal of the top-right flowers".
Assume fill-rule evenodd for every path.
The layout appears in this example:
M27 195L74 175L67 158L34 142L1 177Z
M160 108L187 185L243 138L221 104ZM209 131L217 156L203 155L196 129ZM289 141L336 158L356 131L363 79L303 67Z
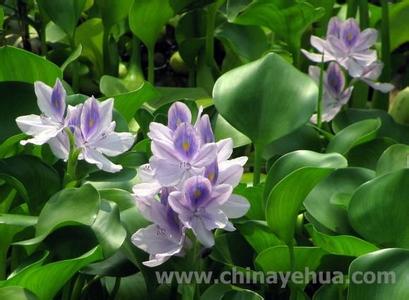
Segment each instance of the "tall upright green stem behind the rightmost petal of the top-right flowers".
M381 0L382 5L382 22L381 22L381 59L384 63L383 71L380 76L380 81L390 82L391 80L391 41L389 34L389 5L387 0ZM374 93L373 107L387 110L389 106L388 94L383 94L379 91Z

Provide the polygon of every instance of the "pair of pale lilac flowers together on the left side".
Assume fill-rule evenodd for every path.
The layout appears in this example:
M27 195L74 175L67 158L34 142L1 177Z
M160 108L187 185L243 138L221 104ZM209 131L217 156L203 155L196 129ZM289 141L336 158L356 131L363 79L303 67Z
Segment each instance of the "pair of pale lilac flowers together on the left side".
M66 130L69 129L74 135L74 148L80 150L78 159L95 164L107 172L122 169L122 166L112 163L106 156L124 153L133 145L135 137L129 132L114 131L113 99L98 102L90 97L84 104L66 108L66 92L60 80L57 79L53 88L42 82L36 82L34 87L42 114L16 119L18 127L32 136L21 144L48 143L56 157L67 160L70 140Z

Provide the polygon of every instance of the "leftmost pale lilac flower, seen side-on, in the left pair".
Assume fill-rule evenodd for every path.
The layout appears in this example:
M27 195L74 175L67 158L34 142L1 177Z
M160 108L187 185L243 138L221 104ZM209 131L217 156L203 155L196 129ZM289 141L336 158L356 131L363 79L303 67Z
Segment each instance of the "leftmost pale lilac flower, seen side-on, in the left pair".
M27 143L43 145L56 137L65 126L66 92L61 81L57 79L53 88L37 81L34 88L41 115L21 116L16 119L21 131L32 136L21 141L22 145Z

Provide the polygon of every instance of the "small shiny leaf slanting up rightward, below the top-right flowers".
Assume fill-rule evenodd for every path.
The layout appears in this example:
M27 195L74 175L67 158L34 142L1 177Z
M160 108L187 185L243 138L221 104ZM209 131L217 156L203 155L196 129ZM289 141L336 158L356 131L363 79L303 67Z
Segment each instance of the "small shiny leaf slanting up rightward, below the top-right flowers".
M379 119L354 123L338 132L330 140L327 152L346 154L353 147L375 139L381 125Z

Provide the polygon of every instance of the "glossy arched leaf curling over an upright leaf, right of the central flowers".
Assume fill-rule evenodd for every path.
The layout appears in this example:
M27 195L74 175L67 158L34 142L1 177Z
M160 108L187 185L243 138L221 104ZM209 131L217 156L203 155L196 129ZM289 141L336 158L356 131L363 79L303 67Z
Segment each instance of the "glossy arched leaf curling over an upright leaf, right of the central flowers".
M271 166L264 187L264 199L267 200L272 188L284 177L303 167L327 168L345 163L339 154L323 154L309 150L298 150L283 155Z

